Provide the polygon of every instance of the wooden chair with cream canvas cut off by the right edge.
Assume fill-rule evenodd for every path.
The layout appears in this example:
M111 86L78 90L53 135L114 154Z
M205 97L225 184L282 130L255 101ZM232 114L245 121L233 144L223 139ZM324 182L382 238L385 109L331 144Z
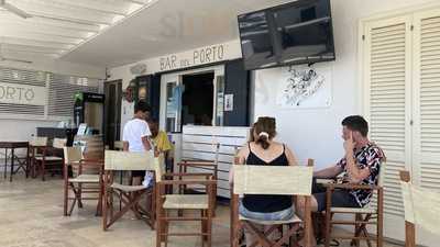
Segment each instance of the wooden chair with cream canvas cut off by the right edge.
M416 247L416 226L440 236L440 191L414 186L409 171L400 171L405 207L405 247Z

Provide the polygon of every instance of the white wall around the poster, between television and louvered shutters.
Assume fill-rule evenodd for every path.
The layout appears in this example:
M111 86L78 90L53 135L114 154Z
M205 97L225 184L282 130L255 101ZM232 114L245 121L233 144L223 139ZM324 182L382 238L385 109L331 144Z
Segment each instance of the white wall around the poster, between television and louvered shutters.
M299 159L315 158L318 168L338 161L343 155L341 121L361 114L358 78L358 25L362 18L428 0L331 0L337 60L320 64L332 70L332 105L314 110L282 110L275 103L279 68L255 71L254 117L272 115L277 120L278 138ZM318 66L318 65L317 65Z

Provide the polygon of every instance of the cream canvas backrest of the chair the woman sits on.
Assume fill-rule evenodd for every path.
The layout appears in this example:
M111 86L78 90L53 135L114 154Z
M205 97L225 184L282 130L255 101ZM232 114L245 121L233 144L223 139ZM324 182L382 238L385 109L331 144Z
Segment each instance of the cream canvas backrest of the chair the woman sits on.
M232 169L234 194L311 194L312 166L234 165Z

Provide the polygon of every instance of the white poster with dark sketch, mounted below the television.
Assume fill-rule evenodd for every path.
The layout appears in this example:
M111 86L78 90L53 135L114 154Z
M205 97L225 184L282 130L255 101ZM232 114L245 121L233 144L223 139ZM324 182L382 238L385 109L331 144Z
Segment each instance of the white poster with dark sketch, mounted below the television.
M331 105L331 69L295 66L283 68L276 103L285 109Z

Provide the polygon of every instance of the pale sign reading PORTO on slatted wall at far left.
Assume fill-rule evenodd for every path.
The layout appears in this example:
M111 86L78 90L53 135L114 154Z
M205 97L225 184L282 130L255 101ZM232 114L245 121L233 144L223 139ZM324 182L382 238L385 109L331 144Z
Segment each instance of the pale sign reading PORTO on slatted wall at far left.
M0 82L0 103L45 105L46 88Z

